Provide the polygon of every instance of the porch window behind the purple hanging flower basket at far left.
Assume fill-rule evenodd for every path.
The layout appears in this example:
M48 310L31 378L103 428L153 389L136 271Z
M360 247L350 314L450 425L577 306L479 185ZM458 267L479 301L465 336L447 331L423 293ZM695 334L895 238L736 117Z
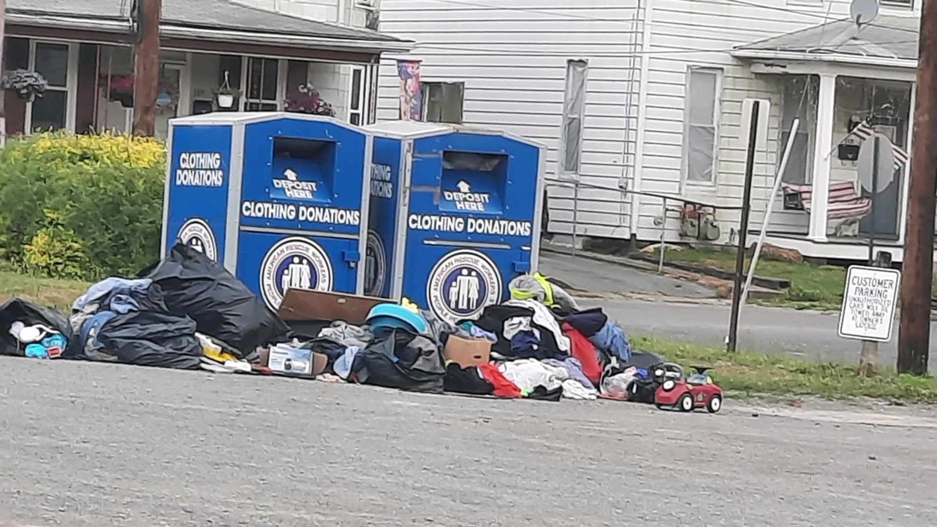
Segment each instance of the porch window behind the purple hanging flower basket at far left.
M68 44L59 42L30 42L29 68L45 78L48 86L43 97L35 98L26 109L26 130L48 131L73 129L74 111L71 92L75 81L73 69L76 60Z

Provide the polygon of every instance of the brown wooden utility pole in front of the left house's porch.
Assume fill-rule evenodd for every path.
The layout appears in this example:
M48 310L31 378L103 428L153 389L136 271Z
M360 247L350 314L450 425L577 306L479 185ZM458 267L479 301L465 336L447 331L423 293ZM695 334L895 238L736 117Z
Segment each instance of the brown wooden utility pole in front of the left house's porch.
M133 134L156 133L159 94L159 19L162 0L137 0L137 49L133 78Z

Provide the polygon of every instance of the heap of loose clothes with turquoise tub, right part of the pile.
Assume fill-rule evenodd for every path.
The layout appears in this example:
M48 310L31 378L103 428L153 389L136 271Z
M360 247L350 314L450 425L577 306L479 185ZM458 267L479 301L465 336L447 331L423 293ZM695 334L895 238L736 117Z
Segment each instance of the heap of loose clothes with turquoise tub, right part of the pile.
M602 309L580 309L539 274L514 279L512 298L476 320L448 324L406 299L380 304L366 324L337 321L299 344L327 357L324 378L404 390L517 399L627 399L654 354L633 354ZM446 358L449 339L486 339L490 360Z

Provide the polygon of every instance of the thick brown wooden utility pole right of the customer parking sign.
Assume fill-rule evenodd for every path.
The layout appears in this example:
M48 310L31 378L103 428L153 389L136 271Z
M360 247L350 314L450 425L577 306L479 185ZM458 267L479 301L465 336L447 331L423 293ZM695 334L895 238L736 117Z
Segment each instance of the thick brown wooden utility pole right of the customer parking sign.
M898 370L925 375L930 352L934 201L937 192L937 2L921 8L911 185L901 273Z

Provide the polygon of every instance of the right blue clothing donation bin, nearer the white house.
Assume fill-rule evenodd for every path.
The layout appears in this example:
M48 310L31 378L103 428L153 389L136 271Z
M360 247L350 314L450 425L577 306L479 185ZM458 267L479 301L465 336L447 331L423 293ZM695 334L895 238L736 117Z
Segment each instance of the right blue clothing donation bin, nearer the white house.
M436 123L365 129L374 135L366 294L406 296L455 323L536 269L543 145Z

